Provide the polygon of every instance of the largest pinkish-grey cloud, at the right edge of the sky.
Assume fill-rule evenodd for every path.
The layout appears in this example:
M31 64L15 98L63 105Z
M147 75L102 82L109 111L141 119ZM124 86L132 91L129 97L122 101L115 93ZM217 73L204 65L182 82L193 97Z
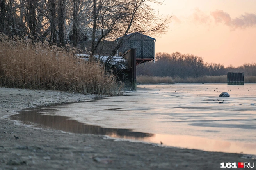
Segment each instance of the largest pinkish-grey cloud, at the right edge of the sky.
M227 12L216 10L211 12L211 16L214 18L215 23L224 23L226 26L233 29L256 26L256 13L245 13L232 19Z

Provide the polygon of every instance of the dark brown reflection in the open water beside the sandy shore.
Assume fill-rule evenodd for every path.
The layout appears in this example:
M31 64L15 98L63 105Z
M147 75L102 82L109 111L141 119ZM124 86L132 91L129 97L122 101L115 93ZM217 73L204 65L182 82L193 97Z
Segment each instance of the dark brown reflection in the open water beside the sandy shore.
M108 135L110 137L117 138L129 138L135 140L141 140L146 137L152 137L154 134L133 132L129 129L114 129L114 128L102 128L100 126L84 125L76 120L71 120L66 116L50 116L39 113L41 109L21 111L20 114L11 116L11 119L22 121L24 123L37 123L44 127L54 128L65 132L72 132L78 134L98 134ZM47 111L47 109L44 109ZM53 112L54 110L50 110Z

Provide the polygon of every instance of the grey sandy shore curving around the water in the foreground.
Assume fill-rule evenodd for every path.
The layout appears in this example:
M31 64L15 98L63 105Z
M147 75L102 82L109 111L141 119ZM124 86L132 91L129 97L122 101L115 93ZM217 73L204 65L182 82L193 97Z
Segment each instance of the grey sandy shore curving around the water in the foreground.
M96 95L0 88L0 170L216 170L222 162L254 162L243 154L115 141L101 135L32 128L8 118L23 108L89 101Z

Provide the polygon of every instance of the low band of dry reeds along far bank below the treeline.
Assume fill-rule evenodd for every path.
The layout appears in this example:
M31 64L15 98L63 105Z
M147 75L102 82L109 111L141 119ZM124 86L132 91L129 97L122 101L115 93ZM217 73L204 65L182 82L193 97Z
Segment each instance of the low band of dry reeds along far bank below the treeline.
M256 83L256 76L245 76L245 83ZM202 76L202 77L157 77L157 76L137 76L137 83L140 84L174 84L174 83L227 83L227 75L222 76Z

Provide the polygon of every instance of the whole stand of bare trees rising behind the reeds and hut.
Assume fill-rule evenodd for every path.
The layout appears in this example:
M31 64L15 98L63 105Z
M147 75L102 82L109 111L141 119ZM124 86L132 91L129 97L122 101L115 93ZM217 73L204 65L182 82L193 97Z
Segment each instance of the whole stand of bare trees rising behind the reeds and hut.
M111 46L107 65L126 35L167 31L170 17L158 16L149 3L162 5L159 0L0 0L0 31L61 44L70 39L74 47L91 38L91 58L104 42L121 37ZM83 38L86 31L89 38Z

